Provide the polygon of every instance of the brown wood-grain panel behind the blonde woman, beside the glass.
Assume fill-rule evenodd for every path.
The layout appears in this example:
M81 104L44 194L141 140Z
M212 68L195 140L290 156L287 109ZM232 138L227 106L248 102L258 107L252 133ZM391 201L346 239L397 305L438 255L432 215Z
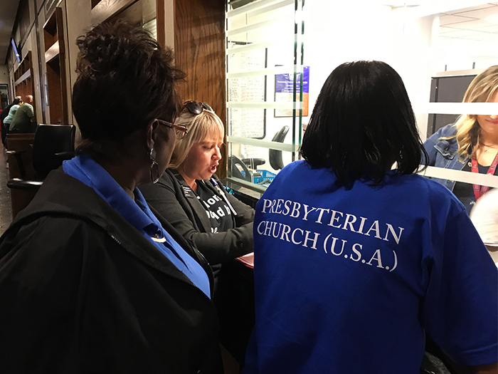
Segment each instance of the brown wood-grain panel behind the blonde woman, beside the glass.
M182 100L209 103L226 128L225 1L175 0L176 66L187 76ZM226 142L225 142L226 143ZM216 174L226 177L226 147Z

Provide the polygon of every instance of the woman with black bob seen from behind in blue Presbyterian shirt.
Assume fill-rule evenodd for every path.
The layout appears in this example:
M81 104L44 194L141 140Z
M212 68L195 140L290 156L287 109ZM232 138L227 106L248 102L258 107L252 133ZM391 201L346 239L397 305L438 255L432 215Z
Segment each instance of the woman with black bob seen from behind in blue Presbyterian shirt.
M414 174L424 152L391 66L332 71L304 160L256 207L243 373L415 374L426 332L465 370L497 373L498 269L455 196Z

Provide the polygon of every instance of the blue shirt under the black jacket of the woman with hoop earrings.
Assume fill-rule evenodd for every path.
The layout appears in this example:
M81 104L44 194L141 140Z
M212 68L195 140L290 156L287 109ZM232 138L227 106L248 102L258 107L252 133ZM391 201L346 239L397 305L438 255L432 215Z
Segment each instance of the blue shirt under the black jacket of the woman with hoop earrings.
M97 162L88 155L80 155L63 162L63 170L71 177L97 192L111 207L122 215L135 229L141 232L169 261L184 273L211 298L209 279L206 271L196 260L184 251L181 246L166 232L159 220L149 209L139 189L134 189L134 201L124 189ZM157 242L154 239L166 239Z

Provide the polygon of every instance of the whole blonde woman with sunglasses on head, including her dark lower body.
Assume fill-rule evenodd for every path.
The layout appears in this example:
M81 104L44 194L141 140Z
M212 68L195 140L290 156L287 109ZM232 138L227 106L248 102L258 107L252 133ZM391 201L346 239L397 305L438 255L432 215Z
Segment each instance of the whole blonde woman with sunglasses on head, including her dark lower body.
M140 190L211 264L220 341L242 364L253 326L253 274L233 260L253 251L254 209L229 194L214 174L224 128L213 109L186 101L175 125L186 131L176 140L168 169L157 184Z

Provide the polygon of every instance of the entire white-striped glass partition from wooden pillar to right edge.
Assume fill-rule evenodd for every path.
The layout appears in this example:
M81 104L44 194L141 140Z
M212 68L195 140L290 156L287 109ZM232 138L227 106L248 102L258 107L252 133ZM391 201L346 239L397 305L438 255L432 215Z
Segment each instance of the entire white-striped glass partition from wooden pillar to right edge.
M277 174L271 150L284 165L298 158L319 90L346 61L385 61L400 73L422 140L459 115L498 113L498 103L462 103L470 81L498 65L498 3L234 0L226 22L228 175L244 187L264 191ZM425 176L498 187L497 176L459 169Z

